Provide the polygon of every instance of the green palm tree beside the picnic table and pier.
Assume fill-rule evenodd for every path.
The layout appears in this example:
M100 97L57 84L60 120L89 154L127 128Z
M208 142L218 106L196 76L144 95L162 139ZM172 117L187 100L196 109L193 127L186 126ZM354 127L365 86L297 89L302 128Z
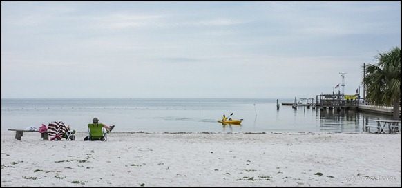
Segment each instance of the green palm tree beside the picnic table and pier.
M367 88L366 99L374 105L392 105L392 119L399 120L401 103L401 48L374 56L379 62L363 67L363 84Z

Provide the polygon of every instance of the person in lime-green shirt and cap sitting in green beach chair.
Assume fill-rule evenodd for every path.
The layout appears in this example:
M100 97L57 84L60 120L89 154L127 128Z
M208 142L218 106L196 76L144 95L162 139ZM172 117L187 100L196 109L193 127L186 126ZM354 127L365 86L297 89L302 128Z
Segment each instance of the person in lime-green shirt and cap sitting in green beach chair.
M108 140L108 133L112 131L115 125L108 126L104 123L100 123L98 118L93 118L91 124L88 124L88 136L84 138L86 140Z

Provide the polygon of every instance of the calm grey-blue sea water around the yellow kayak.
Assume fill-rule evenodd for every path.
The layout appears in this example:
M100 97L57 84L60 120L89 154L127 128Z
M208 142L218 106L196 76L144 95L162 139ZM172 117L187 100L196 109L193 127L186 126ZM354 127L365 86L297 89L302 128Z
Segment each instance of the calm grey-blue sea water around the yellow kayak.
M231 113L241 125L217 122ZM354 110L277 110L276 99L1 99L1 131L57 120L86 131L94 117L115 125L113 132L363 132L363 125L376 125L374 119L390 118Z

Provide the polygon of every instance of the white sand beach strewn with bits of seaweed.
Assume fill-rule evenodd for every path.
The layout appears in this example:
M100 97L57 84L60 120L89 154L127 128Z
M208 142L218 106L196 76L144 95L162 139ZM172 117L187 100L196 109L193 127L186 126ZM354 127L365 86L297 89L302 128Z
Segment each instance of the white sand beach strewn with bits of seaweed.
M401 187L401 134L1 133L1 187Z

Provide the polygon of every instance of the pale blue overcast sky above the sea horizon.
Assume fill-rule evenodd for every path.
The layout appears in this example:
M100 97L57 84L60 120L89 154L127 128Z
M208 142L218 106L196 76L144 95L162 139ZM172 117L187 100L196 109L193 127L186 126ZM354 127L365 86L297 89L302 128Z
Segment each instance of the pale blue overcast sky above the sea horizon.
M315 98L401 46L401 1L1 1L1 98Z

